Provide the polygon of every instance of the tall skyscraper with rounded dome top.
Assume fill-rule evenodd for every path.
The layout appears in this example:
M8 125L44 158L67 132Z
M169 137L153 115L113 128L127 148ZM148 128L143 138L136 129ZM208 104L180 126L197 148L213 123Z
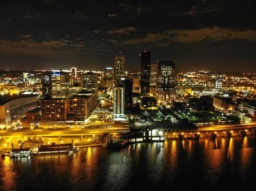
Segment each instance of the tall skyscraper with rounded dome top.
M113 83L114 85L121 82L121 77L125 76L125 59L122 53L118 53L115 57L114 62L114 74Z

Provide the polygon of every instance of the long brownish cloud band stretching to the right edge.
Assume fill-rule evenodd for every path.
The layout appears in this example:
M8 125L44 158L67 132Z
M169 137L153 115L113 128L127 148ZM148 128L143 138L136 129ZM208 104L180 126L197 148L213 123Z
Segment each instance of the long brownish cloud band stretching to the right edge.
M144 38L123 41L123 45L157 44L157 46L173 43L211 43L224 40L242 39L256 41L256 30L234 31L217 26L196 30L170 30L157 34L147 34Z

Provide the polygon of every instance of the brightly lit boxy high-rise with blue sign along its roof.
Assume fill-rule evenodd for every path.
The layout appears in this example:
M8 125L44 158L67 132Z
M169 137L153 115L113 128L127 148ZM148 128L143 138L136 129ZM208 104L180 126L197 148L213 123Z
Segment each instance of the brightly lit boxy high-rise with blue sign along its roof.
M69 98L70 77L69 74L58 72L52 74L52 98L67 99Z

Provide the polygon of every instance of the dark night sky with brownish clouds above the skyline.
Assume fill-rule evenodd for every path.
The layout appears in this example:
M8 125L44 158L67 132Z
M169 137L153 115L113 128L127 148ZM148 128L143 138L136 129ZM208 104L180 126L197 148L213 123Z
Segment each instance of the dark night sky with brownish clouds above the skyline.
M256 72L255 0L1 0L0 70L104 70L123 52L138 71Z

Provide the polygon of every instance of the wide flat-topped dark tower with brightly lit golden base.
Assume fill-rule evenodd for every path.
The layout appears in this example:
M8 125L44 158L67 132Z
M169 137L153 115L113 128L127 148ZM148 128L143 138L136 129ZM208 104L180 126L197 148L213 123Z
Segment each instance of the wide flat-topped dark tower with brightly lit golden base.
M175 101L175 61L158 61L157 65L157 100L163 103Z

